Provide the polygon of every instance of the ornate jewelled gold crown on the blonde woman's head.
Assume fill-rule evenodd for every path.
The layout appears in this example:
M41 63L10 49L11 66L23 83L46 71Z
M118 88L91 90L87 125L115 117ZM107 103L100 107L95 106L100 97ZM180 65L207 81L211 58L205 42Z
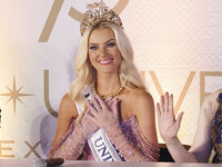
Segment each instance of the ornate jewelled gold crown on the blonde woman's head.
M89 27L103 21L112 22L123 29L120 17L108 8L102 0L98 3L88 4L88 11L84 12L80 23L81 35L83 36Z

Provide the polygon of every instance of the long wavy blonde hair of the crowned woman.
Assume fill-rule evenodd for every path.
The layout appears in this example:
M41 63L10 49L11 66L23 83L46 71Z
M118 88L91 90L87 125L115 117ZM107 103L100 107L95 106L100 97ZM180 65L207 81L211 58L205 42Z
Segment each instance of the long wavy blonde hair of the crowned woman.
M93 30L103 28L110 28L113 31L117 46L122 56L122 60L119 67L120 81L124 82L127 89L140 88L145 90L141 75L137 70L133 62L132 46L124 31L111 22L100 22L94 27L89 28L81 39L74 66L77 79L70 86L71 98L83 109L85 109L87 99L83 97L82 90L90 86L97 78L95 69L91 66L88 57L89 37Z

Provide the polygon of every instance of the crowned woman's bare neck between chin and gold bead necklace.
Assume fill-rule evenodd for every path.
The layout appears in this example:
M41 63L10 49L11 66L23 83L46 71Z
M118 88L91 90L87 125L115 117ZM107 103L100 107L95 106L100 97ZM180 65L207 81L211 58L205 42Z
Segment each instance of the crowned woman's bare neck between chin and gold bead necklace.
M121 87L119 75L98 73L95 89L100 96L107 96Z

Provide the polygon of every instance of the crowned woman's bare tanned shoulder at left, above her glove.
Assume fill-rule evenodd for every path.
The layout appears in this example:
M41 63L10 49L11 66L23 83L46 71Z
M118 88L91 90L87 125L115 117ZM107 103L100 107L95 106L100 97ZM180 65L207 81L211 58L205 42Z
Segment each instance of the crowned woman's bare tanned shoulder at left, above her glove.
M70 118L78 117L77 106L69 94L65 94L61 99L59 115L68 116Z

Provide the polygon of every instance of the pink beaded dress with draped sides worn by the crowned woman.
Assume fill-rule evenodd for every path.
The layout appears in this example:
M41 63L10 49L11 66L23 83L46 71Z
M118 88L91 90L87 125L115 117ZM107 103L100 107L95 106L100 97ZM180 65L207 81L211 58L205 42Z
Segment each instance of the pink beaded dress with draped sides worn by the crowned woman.
M79 109L79 108L78 108ZM120 124L121 130L124 134L127 140L138 149L142 156L145 157L148 161L158 161L159 160L159 148L153 146L142 134L137 118L133 116L130 119L122 120ZM72 141L69 139L74 131L75 124L74 120L70 125L68 131L63 135L63 137L51 147L50 155L56 157L62 157L64 159L77 159L77 157L72 157ZM114 147L114 144L112 144ZM62 146L65 146L61 148ZM61 151L62 149L62 151ZM124 157L121 156L120 151L115 149L115 151L120 155L121 160L124 161ZM83 160L95 160L88 141L84 141L84 147L82 148Z

